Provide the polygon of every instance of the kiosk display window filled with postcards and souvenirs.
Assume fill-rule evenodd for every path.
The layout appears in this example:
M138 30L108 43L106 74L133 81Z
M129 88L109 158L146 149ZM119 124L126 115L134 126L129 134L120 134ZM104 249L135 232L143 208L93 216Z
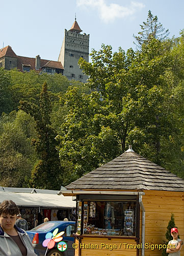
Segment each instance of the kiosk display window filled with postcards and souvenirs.
M86 201L83 211L83 234L136 236L136 202Z

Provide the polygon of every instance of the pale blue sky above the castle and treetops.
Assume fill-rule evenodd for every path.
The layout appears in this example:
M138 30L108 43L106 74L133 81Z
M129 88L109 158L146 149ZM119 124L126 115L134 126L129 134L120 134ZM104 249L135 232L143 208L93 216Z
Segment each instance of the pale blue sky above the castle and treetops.
M75 20L90 34L91 49L111 45L136 49L133 34L146 22L148 11L157 16L169 37L184 29L183 0L0 0L0 49L10 45L20 56L58 60L64 37Z

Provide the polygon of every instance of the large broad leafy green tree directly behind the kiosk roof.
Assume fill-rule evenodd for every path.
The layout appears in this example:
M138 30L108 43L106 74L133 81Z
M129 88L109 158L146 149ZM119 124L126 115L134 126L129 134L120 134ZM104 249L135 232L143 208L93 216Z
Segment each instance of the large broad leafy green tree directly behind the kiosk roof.
M92 63L80 59L79 64L96 92L68 90L61 99L68 114L58 136L60 158L73 163L78 177L115 158L129 143L150 160L163 162L160 141L177 131L166 105L171 91L163 74L172 61L164 44L153 39L141 52L120 48L114 54L102 45L91 55Z

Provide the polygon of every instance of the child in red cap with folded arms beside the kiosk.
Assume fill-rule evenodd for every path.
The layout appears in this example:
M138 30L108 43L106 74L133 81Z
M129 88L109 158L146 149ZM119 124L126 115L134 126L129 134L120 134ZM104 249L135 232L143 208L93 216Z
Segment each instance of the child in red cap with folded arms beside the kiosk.
M170 248L167 248L166 252L169 253L169 256L180 256L180 249L182 245L182 240L178 238L178 229L176 227L171 228L171 236L173 240L169 241L168 245Z

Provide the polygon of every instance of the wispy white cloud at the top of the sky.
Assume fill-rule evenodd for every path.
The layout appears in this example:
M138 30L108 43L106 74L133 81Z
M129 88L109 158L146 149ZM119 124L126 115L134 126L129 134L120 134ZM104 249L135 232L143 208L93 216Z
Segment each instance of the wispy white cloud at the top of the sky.
M116 18L132 16L135 12L145 7L144 4L131 2L128 7L118 4L107 5L105 0L77 0L77 6L97 9L103 22L112 22Z

